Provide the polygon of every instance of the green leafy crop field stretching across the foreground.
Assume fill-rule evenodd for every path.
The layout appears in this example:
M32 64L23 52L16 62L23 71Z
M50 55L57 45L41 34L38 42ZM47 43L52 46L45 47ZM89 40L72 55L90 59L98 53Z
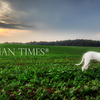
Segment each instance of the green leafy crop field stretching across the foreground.
M100 99L100 63L91 61L83 72L82 65L75 66L85 52L100 52L100 47L0 44L0 48L0 100ZM15 55L4 48L15 48ZM18 48L35 48L34 55L24 50L21 55ZM37 54L36 48L44 49Z

